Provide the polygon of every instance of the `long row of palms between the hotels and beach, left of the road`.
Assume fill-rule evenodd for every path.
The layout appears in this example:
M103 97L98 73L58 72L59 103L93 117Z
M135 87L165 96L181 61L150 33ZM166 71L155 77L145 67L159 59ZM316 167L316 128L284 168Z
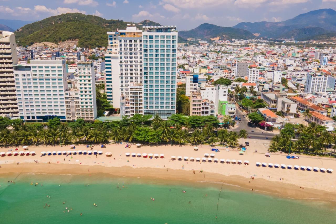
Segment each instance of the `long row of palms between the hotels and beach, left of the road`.
M127 142L142 142L139 141L139 136L142 136L143 132L147 132L148 129L141 129L143 125L130 124L127 127L69 127L67 124L60 124L59 126L43 128L36 128L34 126L22 125L22 127L16 127L15 130L3 129L0 132L0 144L2 145L30 145L30 144L72 144L72 143L109 143L127 141ZM160 133L160 140L156 143L170 143L170 144L186 144L191 143L193 145L199 145L209 143L214 145L216 143L228 144L231 147L238 145L238 140L247 138L247 131L240 130L239 133L228 132L227 129L219 129L216 133L213 125L206 124L202 129L195 129L189 131L188 128L182 127L176 124L173 128L169 121L162 121L160 119L153 120L150 128L155 133ZM142 133L141 133L142 132Z

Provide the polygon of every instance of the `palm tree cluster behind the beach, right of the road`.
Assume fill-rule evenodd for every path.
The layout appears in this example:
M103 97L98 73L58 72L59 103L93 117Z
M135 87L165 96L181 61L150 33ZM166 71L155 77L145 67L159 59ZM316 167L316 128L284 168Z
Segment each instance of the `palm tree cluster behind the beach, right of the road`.
M332 144L336 150L336 136L327 130L318 128L315 122L311 122L307 127L299 124L296 127L295 134L298 136L297 141L292 140L292 136L281 134L272 138L269 145L269 152L282 151L285 153L306 153L306 154L324 154L323 148Z

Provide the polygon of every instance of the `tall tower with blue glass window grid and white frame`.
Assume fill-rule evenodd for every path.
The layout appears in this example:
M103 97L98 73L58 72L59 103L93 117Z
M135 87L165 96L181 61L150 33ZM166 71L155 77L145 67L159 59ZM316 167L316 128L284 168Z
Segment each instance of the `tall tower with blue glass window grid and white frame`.
M176 113L176 26L144 26L144 114L167 119Z

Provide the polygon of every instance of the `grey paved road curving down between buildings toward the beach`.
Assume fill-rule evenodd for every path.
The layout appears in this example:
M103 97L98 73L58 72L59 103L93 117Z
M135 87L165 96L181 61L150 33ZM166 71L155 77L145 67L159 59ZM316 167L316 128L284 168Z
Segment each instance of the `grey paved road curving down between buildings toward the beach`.
M277 133L274 132L264 132L259 127L249 126L248 125L249 119L247 118L247 116L243 117L243 115L245 114L242 111L240 111L239 108L237 108L236 116L238 117L240 116L242 120L236 121L236 123L238 123L238 127L233 128L234 131L239 132L241 129L245 129L247 130L247 134L249 137L251 137L251 139L266 139L267 137L270 140L271 138L277 135ZM254 132L252 132L252 130L254 130ZM248 141L248 139L246 141Z

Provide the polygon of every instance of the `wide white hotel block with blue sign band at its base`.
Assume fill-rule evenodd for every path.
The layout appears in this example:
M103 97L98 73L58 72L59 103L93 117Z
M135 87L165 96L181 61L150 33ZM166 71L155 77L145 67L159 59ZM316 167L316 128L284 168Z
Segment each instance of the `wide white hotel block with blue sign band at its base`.
M25 121L47 122L53 117L66 121L64 92L68 68L65 60L31 60L15 66L19 116Z

